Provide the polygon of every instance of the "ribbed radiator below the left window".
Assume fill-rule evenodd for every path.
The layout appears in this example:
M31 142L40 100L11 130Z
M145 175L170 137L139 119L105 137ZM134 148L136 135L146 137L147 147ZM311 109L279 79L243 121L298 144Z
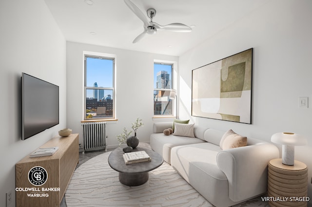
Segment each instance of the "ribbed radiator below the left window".
M83 152L106 150L106 122L88 122L82 124Z

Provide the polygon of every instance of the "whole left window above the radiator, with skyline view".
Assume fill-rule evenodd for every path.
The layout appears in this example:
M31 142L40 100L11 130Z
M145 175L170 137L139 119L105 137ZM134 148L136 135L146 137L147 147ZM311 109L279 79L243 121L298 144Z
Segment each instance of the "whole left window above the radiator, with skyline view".
M84 120L115 118L114 65L114 58L85 56Z

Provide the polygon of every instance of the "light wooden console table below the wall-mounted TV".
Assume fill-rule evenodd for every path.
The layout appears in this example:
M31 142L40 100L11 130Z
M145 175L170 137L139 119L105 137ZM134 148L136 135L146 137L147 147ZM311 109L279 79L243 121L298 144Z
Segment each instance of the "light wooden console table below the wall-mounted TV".
M33 158L28 155L16 164L16 207L59 207L79 161L78 137L78 133L54 137L40 147L59 147L53 155ZM41 186L33 185L28 178L34 167L43 168L47 173Z

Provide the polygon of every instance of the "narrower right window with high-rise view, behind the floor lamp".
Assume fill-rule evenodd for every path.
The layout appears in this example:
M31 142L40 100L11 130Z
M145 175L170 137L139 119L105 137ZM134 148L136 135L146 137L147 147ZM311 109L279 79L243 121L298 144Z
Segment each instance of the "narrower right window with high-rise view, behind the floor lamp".
M172 89L173 65L154 63L154 115L173 115L172 99L169 98Z

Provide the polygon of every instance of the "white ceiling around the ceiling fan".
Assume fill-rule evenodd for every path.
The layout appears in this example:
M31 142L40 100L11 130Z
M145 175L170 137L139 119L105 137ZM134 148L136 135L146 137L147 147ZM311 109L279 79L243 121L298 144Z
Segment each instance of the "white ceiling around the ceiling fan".
M132 41L143 32L143 23L124 1L92 1L93 5L85 0L45 0L67 41L180 56L267 0L131 0L144 14L155 8L153 21L160 25L195 25L190 33L158 31L135 44Z

